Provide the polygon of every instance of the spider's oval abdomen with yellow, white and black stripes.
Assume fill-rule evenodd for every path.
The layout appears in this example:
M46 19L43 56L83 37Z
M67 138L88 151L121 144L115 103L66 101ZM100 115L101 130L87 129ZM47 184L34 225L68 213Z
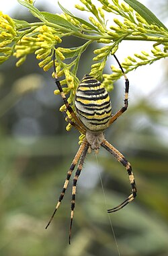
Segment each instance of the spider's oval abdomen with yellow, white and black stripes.
M91 131L103 131L112 115L110 96L97 79L85 75L77 88L75 107L81 122Z

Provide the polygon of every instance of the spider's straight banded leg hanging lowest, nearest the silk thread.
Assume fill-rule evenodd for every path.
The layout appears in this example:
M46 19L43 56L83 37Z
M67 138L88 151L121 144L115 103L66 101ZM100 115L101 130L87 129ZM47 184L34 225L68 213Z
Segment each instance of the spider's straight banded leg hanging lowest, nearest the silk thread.
M79 178L79 175L81 174L81 170L83 167L83 163L84 163L88 148L89 148L89 143L86 143L85 148L83 149L83 152L81 154L81 159L79 161L79 165L77 167L75 177L73 179L73 191L72 191L72 200L71 200L71 222L70 222L70 228L69 228L69 245L71 244L71 231L72 231L72 224L73 224L73 214L75 209L75 195L76 195L76 188L77 188L77 180Z

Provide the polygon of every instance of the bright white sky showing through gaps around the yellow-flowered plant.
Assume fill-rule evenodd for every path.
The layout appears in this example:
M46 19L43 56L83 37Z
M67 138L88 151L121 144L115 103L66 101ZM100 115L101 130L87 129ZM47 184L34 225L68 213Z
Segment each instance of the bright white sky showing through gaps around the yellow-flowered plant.
M142 0L140 2L146 5L146 7L149 7L149 9L155 13L153 0ZM47 3L48 8L50 7L50 11L53 13L61 11L57 5L57 0L36 0L35 6L38 5L38 3ZM74 7L75 3L81 4L79 0L60 0L60 3L73 13L77 11ZM99 2L93 0L93 3L97 4ZM12 13L14 13L18 7L19 11L28 11L25 7L19 5L17 0L0 0L0 10L3 11L3 13L11 15L11 17ZM84 13L82 14L84 15ZM146 51L150 53L151 45L153 45L151 42L123 41L117 51L117 57L120 62L122 62L128 55L133 57L134 53L140 53L140 51ZM162 81L163 73L166 71L164 69L165 63L166 62L164 60L157 61L153 63L153 65L139 67L136 69L136 71L132 71L128 74L128 79L130 80L130 89L132 86L134 86L134 92L133 90L130 90L130 98L132 98L132 101L136 100L135 96L137 96L137 92L139 98L150 96L153 90L155 90L156 86L158 86L159 82L161 83ZM164 98L163 96L160 103L164 106L168 106L167 97Z

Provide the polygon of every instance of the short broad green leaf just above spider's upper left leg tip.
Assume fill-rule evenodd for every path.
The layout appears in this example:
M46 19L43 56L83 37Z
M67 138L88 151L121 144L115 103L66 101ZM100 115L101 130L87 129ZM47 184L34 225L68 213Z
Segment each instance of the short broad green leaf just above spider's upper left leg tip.
M62 26L64 28L70 28L71 30L77 32L77 28L71 24L68 20L65 20L64 18L60 17L57 14L49 13L47 11L40 11L40 13L44 16L45 20L48 22L51 22L53 24L56 24L58 26Z

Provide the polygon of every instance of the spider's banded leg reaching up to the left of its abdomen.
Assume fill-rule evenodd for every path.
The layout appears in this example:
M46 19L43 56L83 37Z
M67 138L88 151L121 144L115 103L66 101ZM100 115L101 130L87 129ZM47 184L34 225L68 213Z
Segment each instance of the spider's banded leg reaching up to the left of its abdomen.
M54 50L54 54L53 54L53 65L54 65L54 77L55 77L55 84L58 87L58 90L60 91L60 96L62 97L62 100L65 104L65 106L67 107L67 110L69 111L69 113L71 114L71 116L73 117L73 119L75 120L75 122L77 123L76 128L79 126L81 127L81 129L85 130L85 127L83 125L83 123L79 120L79 118L77 117L77 115L75 114L75 112L73 111L73 108L71 108L69 102L67 101L67 98L65 96L65 93L62 90L62 87L60 86L60 82L58 80L58 77L56 75L56 67L55 67L55 50ZM78 129L78 128L77 128Z

